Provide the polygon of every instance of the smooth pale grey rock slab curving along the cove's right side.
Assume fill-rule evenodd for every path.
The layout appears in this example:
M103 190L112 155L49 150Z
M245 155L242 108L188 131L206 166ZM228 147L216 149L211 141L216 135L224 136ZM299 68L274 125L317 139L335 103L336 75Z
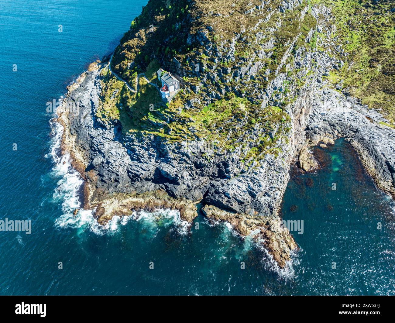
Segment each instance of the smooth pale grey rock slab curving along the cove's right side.
M325 138L348 139L378 188L394 196L395 131L380 123L384 120L357 100L325 89L315 96L306 133L314 145L323 139L329 141Z

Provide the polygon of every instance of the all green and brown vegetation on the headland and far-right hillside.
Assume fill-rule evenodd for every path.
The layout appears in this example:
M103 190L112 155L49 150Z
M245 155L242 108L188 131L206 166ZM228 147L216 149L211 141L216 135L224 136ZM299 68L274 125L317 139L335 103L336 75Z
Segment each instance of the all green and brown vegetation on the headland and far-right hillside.
M191 109L185 110L186 101L199 99L200 96L199 92L188 90L199 82L199 76L194 74L189 61L198 62L200 66L211 64L210 58L204 54L203 46L199 43L187 43L189 34L196 35L201 30L207 32L206 26L213 26L207 37L214 47L227 47L229 39L243 31L245 40L239 39L235 43L235 60L220 60L217 69L243 66L260 49L257 47L254 27L262 16L246 15L245 9L251 8L250 3L260 5L262 2L241 0L232 6L233 2L201 0L192 4L188 0L150 0L142 14L132 22L130 30L125 33L115 50L113 68L134 87L138 73L145 73L150 81L154 81L159 66L172 71L174 56L184 67L185 87L166 106L155 88L144 79L140 78L138 94L133 94L121 82L106 75L98 115L102 118L119 119L125 133L151 133L168 141L199 136L205 140L216 141L217 146L227 150L241 146L245 151L246 164L267 152L276 154L276 142L290 129L289 116L283 108L295 100L298 89L305 84L309 73L300 70L288 71L283 66L280 73L287 73L287 79L283 85L281 100L274 98L280 94L278 91L273 94L274 107L261 109L256 104L260 102L255 95L264 92L275 77L273 71L277 69L290 42L297 35L301 36L297 39L294 51L297 48L303 51L316 49L317 37L320 37L316 32L306 43L307 34L315 28L316 21L310 9L304 19L300 18L301 11L306 5L325 4L332 8L336 16L333 36L339 36L344 49L350 53L344 68L331 71L329 78L333 83L343 79L344 88L350 88L350 92L361 98L363 103L380 109L393 121L394 14L388 12L390 2L385 0L374 6L370 0L308 0L293 11L275 12L268 22L261 25L266 33L262 41L271 37L275 41L274 48L268 50L273 51L273 55L265 59L265 67L254 79L242 79L239 82L231 79L228 83L229 88L237 88L237 93L241 93L241 96L229 92L208 106L195 104ZM270 6L274 9L279 4L280 0L272 0ZM210 14L210 11L217 15ZM233 14L229 15L231 11ZM381 15L374 15L375 12L380 12ZM279 21L280 30L267 32L268 28ZM332 51L332 55L337 53ZM153 60L154 57L156 61ZM344 59L340 56L339 58ZM256 59L255 57L254 60ZM292 65L292 60L291 55L286 63ZM351 64L352 67L348 69ZM268 68L271 73L265 81L265 71ZM208 81L207 88L202 91L216 92L217 86L221 86L219 83L218 80L211 83ZM292 88L296 96L288 96L288 88ZM155 107L154 111L149 109L151 104ZM261 127L259 138L254 139L254 142L241 140L256 124ZM278 135L271 138L268 133L276 127L279 128Z

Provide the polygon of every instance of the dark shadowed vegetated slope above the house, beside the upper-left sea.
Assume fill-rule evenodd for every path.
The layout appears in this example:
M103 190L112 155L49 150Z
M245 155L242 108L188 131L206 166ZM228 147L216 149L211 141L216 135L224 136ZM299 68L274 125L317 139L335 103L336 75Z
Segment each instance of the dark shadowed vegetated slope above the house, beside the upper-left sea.
M188 14L188 0L150 0L115 49L111 67L132 85L131 63L133 71L143 73L154 58L166 66L173 56L185 53L188 33L181 26L187 25Z

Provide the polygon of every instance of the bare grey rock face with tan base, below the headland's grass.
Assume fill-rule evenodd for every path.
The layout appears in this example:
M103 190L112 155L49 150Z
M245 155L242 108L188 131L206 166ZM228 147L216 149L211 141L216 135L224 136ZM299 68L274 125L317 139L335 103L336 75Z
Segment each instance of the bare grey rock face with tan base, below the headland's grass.
M294 137L282 144L279 156L267 154L252 171L238 176L232 175L240 158L237 151L233 157L215 155L214 165L202 167L199 154L187 155L150 137L142 141L124 136L118 124L97 120L100 71L86 72L79 84L70 87L65 103L78 102L76 111L68 111L66 104L58 110L58 121L65 129L63 152L70 154L73 166L85 179L84 208L96 208L95 217L101 224L115 215L165 208L179 210L183 220L192 222L197 216L196 203L201 201L207 204L205 210L237 212L239 218L228 212L226 221L245 219L235 226L242 235L249 234L244 229L248 223L260 228L263 246L284 267L296 245L288 230L280 228L277 211L289 180ZM301 100L293 106L298 115L302 108L302 115L308 114ZM299 132L306 120L297 121ZM218 212L210 214L214 217Z

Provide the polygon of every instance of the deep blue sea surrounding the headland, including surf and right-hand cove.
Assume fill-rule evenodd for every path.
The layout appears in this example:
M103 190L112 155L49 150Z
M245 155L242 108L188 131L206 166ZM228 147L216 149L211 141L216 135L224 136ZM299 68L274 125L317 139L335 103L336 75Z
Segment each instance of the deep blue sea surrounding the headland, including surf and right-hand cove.
M294 235L301 249L282 272L250 239L202 216L199 230L169 212L108 229L89 212L70 216L80 181L54 163L46 103L111 53L145 3L0 2L0 220L32 220L30 235L0 231L0 294L394 295L395 205L342 140L323 152L320 171L292 173L282 213L303 220L304 233Z

